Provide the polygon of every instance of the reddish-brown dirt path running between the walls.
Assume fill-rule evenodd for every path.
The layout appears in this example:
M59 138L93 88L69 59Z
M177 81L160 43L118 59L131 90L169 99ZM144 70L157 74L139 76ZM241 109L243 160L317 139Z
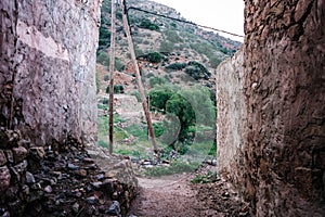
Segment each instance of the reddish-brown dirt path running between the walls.
M192 184L191 175L139 178L139 196L131 214L136 217L249 216L248 207L224 180ZM131 216L132 216L131 215Z

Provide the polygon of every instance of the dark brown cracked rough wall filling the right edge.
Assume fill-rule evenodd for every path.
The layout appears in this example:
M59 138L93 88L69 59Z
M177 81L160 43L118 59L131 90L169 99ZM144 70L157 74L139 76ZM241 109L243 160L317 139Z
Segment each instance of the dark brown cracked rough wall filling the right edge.
M245 0L245 196L325 215L325 1Z

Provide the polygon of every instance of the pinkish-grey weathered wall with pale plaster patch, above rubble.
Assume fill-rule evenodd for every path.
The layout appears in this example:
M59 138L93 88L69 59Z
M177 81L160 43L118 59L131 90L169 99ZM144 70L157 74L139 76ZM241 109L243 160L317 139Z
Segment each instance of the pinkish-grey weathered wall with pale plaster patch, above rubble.
M99 23L100 0L1 0L0 126L38 145L95 140Z

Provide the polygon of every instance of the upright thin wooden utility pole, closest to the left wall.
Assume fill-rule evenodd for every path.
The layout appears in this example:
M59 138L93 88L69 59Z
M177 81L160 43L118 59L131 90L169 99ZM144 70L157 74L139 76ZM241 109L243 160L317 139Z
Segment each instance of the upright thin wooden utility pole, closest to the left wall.
M110 14L110 55L109 55L109 106L108 106L108 152L113 154L113 133L114 133L114 71L115 71L115 0L112 0L112 14Z

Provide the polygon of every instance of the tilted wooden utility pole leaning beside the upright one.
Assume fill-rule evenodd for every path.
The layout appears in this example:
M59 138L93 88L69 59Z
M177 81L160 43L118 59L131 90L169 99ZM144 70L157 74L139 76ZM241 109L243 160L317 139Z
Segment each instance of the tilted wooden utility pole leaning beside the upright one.
M144 111L144 116L146 118L148 133L152 138L154 151L158 152L155 131L154 131L154 128L153 128L151 114L150 114L148 106L147 106L147 103L146 103L146 99L145 99L145 95L144 95L144 89L143 89L143 85L142 85L142 81L141 81L139 64L138 64L138 61L136 61L136 56L135 56L135 52L134 52L134 46L133 46L131 34L130 34L130 26L128 24L128 17L127 17L127 14L126 14L127 12L126 12L126 7L125 7L126 5L125 0L120 0L119 5L120 5L120 10L122 12L123 27L125 27L125 31L126 31L127 39L128 39L129 51L131 53L132 63L133 63L134 69L135 69L136 85L138 85L139 93L140 93L141 101L142 101L142 107L143 107L143 111Z

